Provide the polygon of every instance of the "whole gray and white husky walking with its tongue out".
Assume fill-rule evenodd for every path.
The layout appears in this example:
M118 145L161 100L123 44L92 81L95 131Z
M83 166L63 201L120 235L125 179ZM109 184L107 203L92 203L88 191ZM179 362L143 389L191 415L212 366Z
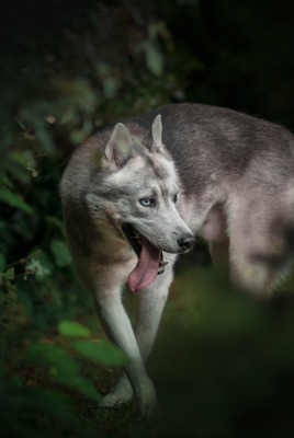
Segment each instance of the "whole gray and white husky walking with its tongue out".
M213 261L228 258L240 289L268 296L294 250L294 137L227 108L166 105L105 127L79 147L61 181L66 230L79 275L125 374L103 399L136 399L158 414L145 369L177 254L201 233ZM159 275L160 274L160 275ZM133 328L122 304L137 291Z

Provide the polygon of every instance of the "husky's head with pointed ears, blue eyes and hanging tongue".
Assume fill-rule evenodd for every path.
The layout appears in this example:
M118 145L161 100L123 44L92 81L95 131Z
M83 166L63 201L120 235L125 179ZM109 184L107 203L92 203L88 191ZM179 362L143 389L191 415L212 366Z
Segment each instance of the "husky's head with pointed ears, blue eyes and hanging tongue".
M88 195L93 214L99 210L115 223L138 256L128 281L133 290L163 270L162 251L183 253L194 243L178 211L180 182L161 132L160 115L151 135L116 124L104 147L94 192Z

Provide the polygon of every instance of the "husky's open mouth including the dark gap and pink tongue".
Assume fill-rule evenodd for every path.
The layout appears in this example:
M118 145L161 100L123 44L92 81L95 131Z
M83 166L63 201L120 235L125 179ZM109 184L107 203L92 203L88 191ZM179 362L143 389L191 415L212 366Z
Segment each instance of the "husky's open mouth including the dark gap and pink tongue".
M162 251L154 246L133 226L124 223L122 229L138 256L138 263L127 278L131 290L135 291L150 285L157 275L162 274L167 262L163 261Z

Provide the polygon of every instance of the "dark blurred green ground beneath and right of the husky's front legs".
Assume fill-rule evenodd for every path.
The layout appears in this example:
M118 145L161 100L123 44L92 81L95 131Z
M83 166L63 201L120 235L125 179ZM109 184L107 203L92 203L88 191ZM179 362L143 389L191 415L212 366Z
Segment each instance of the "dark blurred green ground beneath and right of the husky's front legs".
M131 315L135 301L127 296ZM125 438L293 436L293 293L260 302L188 257L177 269L147 364L162 419L140 422L134 406L99 410L98 430ZM116 378L117 371L101 371L98 389L106 392Z

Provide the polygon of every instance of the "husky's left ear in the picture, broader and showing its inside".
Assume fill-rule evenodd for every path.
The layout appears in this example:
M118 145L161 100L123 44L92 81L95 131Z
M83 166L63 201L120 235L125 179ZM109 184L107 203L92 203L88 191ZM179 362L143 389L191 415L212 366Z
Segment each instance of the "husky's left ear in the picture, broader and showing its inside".
M122 166L131 154L133 142L127 128L122 123L116 124L104 149L104 163Z

